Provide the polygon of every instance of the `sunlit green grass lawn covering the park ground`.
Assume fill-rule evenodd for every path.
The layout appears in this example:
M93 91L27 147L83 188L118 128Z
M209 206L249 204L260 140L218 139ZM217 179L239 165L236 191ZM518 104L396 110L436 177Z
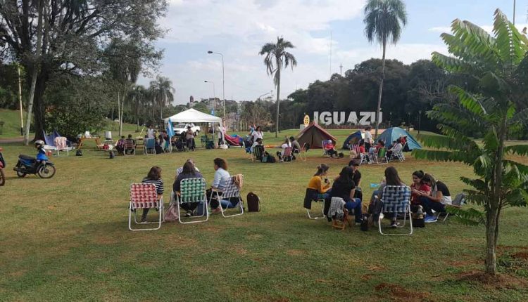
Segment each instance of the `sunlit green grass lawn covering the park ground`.
M290 136L297 131L281 133ZM350 131L332 131L342 143ZM280 138L265 143L279 144ZM503 282L467 277L484 268L484 227L449 220L415 229L413 236L379 235L358 227L332 230L310 221L303 196L320 163L339 173L348 159L251 163L239 148L108 159L52 157L49 180L17 178L13 165L30 147L6 144L6 186L0 187L1 301L527 301L528 211L507 209L501 220L499 263ZM193 157L208 183L213 158L243 173L242 190L256 192L262 211L207 223L165 223L161 230L127 229L128 186L161 166L168 204L174 171ZM526 159L522 159L528 163ZM408 155L395 163L403 180L423 169L463 189L469 167L425 162ZM361 166L365 199L386 165ZM153 219L156 212L149 214Z

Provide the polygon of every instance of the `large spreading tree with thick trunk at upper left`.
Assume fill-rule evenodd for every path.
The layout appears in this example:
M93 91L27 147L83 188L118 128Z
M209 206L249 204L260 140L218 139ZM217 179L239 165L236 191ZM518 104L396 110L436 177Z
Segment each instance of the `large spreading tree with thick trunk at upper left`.
M163 34L156 20L166 9L165 0L0 1L0 59L20 62L27 71L36 138L43 138L46 127L44 93L52 76L99 74L105 68L101 50L113 38L134 37L156 53L153 41ZM149 64L156 64L156 54Z

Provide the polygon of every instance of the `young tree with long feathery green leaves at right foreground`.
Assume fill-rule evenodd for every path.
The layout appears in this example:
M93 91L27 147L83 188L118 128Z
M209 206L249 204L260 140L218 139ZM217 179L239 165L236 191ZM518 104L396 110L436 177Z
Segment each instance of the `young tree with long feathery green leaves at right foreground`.
M486 226L486 273L496 274L496 244L501 211L527 206L528 166L511 155L528 155L526 145L506 145L508 132L528 123L528 110L517 110L522 70L528 62L528 39L500 11L495 11L493 35L468 21L454 20L453 34L442 34L451 56L433 53L433 61L448 72L470 74L475 91L451 86L459 104L436 104L429 117L440 122L445 136L420 136L425 146L442 150L415 150L417 158L463 162L478 178L460 178L472 189L467 199L483 210L460 209L460 220ZM472 136L482 133L483 144Z

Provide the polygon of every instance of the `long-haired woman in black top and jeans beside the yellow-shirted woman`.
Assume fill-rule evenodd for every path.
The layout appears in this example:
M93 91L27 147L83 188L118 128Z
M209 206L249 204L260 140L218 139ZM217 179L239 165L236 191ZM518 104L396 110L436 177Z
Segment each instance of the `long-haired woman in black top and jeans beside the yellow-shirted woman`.
M346 209L348 211L354 210L356 223L361 223L361 200L354 197L356 183L352 178L353 169L349 166L344 167L339 173L339 177L334 180L331 197L341 197L345 201Z

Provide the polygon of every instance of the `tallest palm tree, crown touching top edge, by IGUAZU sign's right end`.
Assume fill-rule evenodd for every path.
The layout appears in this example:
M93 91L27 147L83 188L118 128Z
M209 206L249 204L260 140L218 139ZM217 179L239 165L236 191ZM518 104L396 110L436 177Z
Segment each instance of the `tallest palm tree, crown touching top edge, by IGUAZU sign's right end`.
M382 44L382 79L379 81L379 93L376 109L376 131L377 138L379 128L379 111L382 109L383 81L385 79L385 52L386 44L391 41L396 44L401 36L401 29L407 24L406 5L401 0L368 0L365 6L365 35L372 43L376 40Z

